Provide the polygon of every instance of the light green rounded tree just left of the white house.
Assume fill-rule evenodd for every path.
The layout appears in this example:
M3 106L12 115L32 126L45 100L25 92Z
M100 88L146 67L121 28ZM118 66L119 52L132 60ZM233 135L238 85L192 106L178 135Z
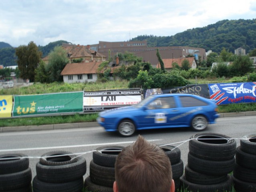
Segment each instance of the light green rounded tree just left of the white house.
M49 82L61 82L63 77L60 75L66 64L69 63L67 53L61 46L54 47L54 50L49 54L46 71L49 74Z

